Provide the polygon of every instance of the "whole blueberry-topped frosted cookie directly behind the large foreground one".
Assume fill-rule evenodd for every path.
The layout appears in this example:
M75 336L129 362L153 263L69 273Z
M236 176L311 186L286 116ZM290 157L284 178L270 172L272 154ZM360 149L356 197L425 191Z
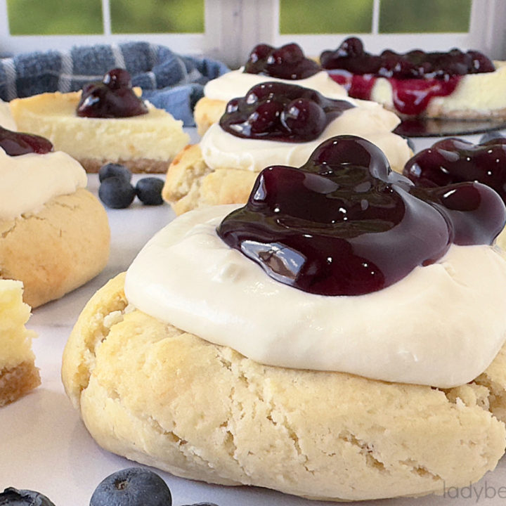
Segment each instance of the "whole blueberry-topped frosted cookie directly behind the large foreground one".
M316 146L340 134L368 138L401 171L413 154L392 133L399 119L364 100L331 99L295 84L265 82L227 105L198 145L187 146L167 171L162 196L176 214L247 200L261 169L301 165Z

